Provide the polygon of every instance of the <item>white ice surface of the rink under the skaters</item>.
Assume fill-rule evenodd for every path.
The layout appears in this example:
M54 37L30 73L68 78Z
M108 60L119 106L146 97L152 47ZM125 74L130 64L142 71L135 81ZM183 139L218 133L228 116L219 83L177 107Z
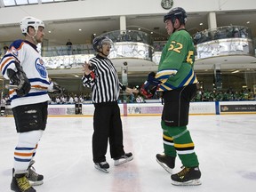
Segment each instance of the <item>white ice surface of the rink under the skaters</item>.
M256 115L189 116L202 185L172 186L170 174L156 163L163 152L160 116L122 117L124 150L132 162L109 173L92 163L92 117L49 117L36 154L36 172L44 174L37 192L251 192L256 188ZM0 191L12 180L17 134L12 117L0 118ZM180 171L177 158L174 172Z

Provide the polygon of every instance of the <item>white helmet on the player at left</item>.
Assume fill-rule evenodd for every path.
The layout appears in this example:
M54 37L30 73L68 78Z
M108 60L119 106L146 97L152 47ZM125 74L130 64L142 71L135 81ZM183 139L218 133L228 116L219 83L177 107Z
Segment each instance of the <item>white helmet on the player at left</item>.
M35 28L37 32L39 26L44 27L44 22L42 20L37 20L36 18L33 17L23 18L20 21L20 29L22 31L22 34L27 34L29 26Z

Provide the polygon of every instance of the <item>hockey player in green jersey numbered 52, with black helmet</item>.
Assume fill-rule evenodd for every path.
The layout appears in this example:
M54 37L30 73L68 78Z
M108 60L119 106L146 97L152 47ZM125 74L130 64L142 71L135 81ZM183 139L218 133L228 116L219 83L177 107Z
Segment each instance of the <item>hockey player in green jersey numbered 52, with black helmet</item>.
M186 21L187 13L180 7L164 16L170 37L162 51L156 76L150 73L142 89L150 92L157 87L164 100L161 121L164 154L157 154L156 161L172 173L178 155L183 169L172 174L172 184L200 185L199 162L187 129L189 102L196 95L197 79L194 73L195 47L185 29Z

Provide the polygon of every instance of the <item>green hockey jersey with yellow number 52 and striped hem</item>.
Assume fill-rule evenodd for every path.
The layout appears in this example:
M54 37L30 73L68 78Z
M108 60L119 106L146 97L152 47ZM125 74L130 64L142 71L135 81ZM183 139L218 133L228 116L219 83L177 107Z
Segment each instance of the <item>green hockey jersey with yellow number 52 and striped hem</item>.
M195 47L192 37L184 29L174 32L164 46L156 73L156 80L161 82L158 91L196 84L194 61Z

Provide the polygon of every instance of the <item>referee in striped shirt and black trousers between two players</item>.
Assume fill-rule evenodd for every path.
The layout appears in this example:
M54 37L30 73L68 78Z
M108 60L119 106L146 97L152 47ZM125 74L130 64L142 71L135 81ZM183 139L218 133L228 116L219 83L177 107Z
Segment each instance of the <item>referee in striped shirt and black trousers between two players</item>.
M82 82L84 86L91 88L95 107L92 135L94 167L102 172L108 172L108 139L110 156L116 166L133 159L132 153L124 152L123 128L117 100L120 89L130 93L136 91L119 82L116 68L111 60L108 60L113 42L107 36L97 36L92 44L97 55L89 60L89 63L85 62Z

